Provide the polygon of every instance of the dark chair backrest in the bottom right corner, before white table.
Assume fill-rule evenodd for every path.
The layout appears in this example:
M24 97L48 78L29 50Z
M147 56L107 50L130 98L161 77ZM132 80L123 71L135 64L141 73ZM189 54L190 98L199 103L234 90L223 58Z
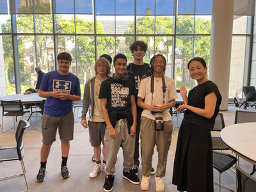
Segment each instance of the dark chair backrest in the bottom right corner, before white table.
M236 176L237 176L237 192L255 192L256 190L256 178L252 175L244 172L237 164Z

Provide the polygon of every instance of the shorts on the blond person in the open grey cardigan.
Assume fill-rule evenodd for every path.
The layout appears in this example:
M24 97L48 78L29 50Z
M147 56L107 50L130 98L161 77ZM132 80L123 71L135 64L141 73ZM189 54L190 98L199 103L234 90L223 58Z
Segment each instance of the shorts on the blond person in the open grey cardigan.
M105 122L88 122L90 143L92 147L97 147L101 144L104 145L104 135L106 130Z

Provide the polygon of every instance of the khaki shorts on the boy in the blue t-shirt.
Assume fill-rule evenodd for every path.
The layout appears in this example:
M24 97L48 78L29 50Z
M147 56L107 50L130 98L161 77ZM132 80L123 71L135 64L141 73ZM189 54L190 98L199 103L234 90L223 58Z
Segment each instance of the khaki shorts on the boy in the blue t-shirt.
M42 142L45 145L51 145L56 141L56 132L59 128L60 139L65 141L73 140L74 136L74 114L70 111L65 116L42 116Z

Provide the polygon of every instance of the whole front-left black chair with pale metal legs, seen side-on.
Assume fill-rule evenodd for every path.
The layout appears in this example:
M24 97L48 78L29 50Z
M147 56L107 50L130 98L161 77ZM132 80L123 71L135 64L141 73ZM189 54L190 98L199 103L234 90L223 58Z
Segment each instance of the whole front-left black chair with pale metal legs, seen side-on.
M23 157L24 157L24 149L23 149L23 143L22 143L22 137L24 134L24 130L26 128L29 127L29 123L26 120L20 120L19 121L19 125L17 127L16 130L16 134L15 134L15 138L16 138L16 142L17 145L16 147L3 147L0 148L0 161L15 161L15 160L19 160L21 167L22 167L22 173L16 174L16 175L10 175L7 177L2 177L0 178L0 181L2 180L6 180L6 179L12 179L12 178L16 178L19 176L24 176L25 182L26 182L26 186L27 186L27 190L28 191L28 182L26 179L26 170L25 170L25 166L24 166L24 162L23 162ZM3 166L3 164L1 163L1 166ZM10 169L12 169L12 167L10 167Z

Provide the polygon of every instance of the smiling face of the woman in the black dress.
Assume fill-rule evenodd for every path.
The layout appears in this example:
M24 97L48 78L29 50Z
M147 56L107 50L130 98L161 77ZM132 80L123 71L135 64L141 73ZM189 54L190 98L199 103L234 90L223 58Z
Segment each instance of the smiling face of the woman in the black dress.
M200 61L192 61L189 63L189 74L192 79L195 79L198 84L202 83L207 79L205 76L207 72L207 67L204 67L204 65Z

